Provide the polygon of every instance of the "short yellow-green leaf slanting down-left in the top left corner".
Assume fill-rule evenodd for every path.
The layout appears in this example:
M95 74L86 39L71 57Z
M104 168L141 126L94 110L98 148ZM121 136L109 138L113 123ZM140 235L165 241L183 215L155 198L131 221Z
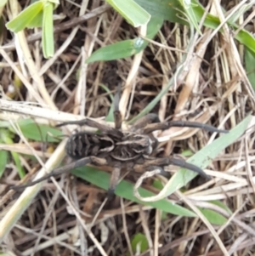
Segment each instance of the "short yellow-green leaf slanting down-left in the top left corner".
M17 17L13 20L10 20L6 27L8 30L13 31L15 33L22 31L31 24L31 21L35 19L35 17L42 12L43 3L42 1L32 3L29 7L23 10Z

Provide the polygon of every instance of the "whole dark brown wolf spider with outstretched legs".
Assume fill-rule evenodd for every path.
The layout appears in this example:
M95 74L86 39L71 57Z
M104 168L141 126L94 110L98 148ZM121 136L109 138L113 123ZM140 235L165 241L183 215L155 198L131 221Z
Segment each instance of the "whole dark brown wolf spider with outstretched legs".
M122 117L119 111L120 93L121 88L119 87L114 99L115 128L111 128L88 118L81 121L60 123L57 127L70 124L79 126L87 125L88 127L99 129L100 133L94 134L79 131L72 134L65 145L65 151L68 156L76 160L75 162L71 162L64 167L55 168L50 174L43 176L41 179L37 179L26 185L17 185L13 188L20 189L35 185L49 177L69 172L71 169L79 168L87 164L112 167L108 191L109 196L114 194L122 168L137 173L160 169L161 174L166 174L163 168L171 164L181 168L188 168L206 179L211 179L201 168L185 162L184 160L172 156L160 158L152 156L152 153L156 150L158 145L158 140L154 137L152 132L165 130L170 127L203 128L207 131L218 133L227 133L228 131L220 130L211 125L199 122L160 122L156 114L148 114L135 122L129 130L122 131Z

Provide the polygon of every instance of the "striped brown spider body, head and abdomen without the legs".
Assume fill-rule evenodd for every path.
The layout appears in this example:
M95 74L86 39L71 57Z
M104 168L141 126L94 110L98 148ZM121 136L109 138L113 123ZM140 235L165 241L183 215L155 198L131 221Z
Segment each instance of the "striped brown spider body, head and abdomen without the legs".
M65 151L75 160L95 156L105 158L110 166L119 164L130 169L135 163L143 164L144 158L150 156L156 145L156 138L147 134L122 132L119 137L112 134L78 132L67 140Z

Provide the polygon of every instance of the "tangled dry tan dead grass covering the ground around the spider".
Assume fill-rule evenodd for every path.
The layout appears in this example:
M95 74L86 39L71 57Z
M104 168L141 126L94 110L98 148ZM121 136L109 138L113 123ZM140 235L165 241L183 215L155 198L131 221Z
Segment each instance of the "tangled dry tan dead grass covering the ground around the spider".
M20 32L15 45L9 34L2 39L6 47L0 48L3 57L0 63L3 87L0 118L11 122L20 134L19 147L6 147L5 150L31 150L41 166L44 166L45 156L49 158L46 168L53 168L64 156L65 144L62 142L54 154L45 155L22 136L15 122L28 115L39 124L49 122L53 125L84 116L102 120L109 111L111 100L99 87L100 82L111 92L115 91L118 82L122 82L120 109L126 119L142 111L176 73L178 79L173 88L153 110L161 120L190 119L230 129L248 112L255 111L254 93L243 67L244 48L235 44L231 31L224 25L218 1L214 1L218 4L208 11L222 20L222 33L202 27L202 36L195 34L191 38L188 27L165 22L156 42L150 42L144 52L127 60L90 65L84 60L96 48L136 37L138 31L112 9L100 7L100 1L89 3L92 11L86 10L86 1L60 2L58 12L65 14L61 23L69 22L72 26L58 26L52 59L44 60L39 41L28 39L34 37L32 30ZM9 9L3 10L8 18L18 13L17 2L9 1L9 4ZM94 17L94 9L100 10L95 14L98 17L83 23L76 20L85 10ZM141 36L144 36L143 29L139 31ZM180 70L177 67L185 54L187 57ZM82 76L78 76L79 71ZM9 89L15 76L23 86L16 94L11 94ZM10 98L19 104L4 101ZM29 102L34 107L28 105ZM135 255L253 255L253 131L251 128L211 164L209 168L218 172L212 182L203 184L201 179L195 179L184 193L170 196L174 202L184 202L193 210L211 208L222 213L228 219L225 225L214 225L213 230L208 230L201 221L202 216L184 218L167 214L167 219L161 219L159 210L123 199L105 204L105 191L65 176L55 185L42 187L31 206L27 205L26 212L14 220L14 228L2 241L2 250L16 255L134 255L131 241L140 232L146 236L150 250ZM65 130L65 134L68 133L70 130ZM193 130L180 128L171 128L157 136L166 155L180 154L186 149L199 151L214 139L202 131L194 135ZM26 169L34 168L31 159L20 158ZM41 170L40 175L43 174ZM14 184L16 168L11 162L2 180L4 184ZM37 187L33 193L36 195L39 190ZM31 191L27 192L29 194ZM12 192L2 194L1 219L22 200L19 196ZM212 200L223 202L232 213L208 202ZM19 210L16 208L13 214L18 216ZM221 246L215 241L217 236L213 232L217 233Z

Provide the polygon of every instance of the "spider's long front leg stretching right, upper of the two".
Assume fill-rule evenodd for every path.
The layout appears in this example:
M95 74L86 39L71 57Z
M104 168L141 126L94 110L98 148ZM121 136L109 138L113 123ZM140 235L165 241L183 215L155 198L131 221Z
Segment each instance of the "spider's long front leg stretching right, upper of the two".
M213 127L212 125L201 123L201 122L189 122L189 121L170 121L170 122L159 122L159 123L150 123L146 125L146 127L143 129L144 134L150 134L153 131L156 130L166 130L167 128L171 127L189 127L189 128L201 128L205 129L212 133L223 133L227 134L229 131L222 130Z

